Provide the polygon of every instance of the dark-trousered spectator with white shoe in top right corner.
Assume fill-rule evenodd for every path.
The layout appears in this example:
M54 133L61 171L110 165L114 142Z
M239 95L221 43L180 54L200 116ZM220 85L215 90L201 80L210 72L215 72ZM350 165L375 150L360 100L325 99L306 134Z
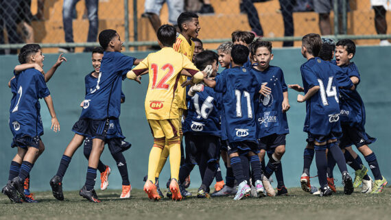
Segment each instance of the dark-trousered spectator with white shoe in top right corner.
M377 34L387 34L386 10L389 0L370 0L373 10L375 10L375 28ZM391 4L391 3L390 3ZM390 5L391 7L391 5ZM380 39L381 46L391 45L387 39Z

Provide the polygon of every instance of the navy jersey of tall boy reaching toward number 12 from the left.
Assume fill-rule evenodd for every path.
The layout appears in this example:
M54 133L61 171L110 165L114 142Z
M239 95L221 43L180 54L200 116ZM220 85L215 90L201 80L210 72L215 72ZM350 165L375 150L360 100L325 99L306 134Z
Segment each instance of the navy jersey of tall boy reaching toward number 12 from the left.
M136 58L119 52L104 52L97 84L86 94L80 119L118 118L121 112L121 80Z

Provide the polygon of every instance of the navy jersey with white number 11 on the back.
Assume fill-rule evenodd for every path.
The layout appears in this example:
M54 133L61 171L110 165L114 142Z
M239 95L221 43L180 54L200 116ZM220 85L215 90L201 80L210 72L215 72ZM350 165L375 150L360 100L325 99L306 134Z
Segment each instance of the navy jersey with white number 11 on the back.
M225 72L225 73L224 73ZM257 141L256 110L254 96L261 86L257 79L243 66L226 69L215 77L215 91L222 93L225 130L228 142Z

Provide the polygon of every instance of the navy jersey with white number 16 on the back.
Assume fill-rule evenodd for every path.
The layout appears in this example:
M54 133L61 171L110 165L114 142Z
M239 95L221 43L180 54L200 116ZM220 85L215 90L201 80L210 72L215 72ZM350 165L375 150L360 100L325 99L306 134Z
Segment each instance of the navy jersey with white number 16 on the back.
M220 114L222 93L206 87L204 91L187 96L187 117L182 125L183 133L221 136Z

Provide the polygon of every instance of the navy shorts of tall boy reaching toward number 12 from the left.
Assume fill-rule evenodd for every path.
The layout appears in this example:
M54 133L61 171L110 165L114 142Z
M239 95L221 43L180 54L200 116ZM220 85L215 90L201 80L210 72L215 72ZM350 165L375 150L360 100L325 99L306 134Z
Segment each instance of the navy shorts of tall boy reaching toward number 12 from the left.
M93 120L79 119L72 127L72 131L85 137L106 140L109 119Z

